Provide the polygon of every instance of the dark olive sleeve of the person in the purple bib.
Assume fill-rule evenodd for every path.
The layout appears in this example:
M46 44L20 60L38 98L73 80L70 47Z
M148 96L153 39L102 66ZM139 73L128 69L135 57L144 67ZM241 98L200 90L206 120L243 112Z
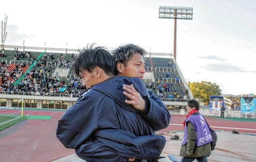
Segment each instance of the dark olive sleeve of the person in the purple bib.
M187 122L187 155L192 155L196 143L196 132L193 124L191 122Z

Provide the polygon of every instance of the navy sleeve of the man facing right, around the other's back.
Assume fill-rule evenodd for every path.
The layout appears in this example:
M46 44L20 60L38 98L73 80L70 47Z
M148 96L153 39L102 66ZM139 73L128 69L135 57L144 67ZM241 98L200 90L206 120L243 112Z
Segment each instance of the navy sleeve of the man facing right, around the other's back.
M148 91L148 93L150 98L144 98L146 108L142 111L141 116L147 120L154 131L167 128L171 119L168 109L152 91Z

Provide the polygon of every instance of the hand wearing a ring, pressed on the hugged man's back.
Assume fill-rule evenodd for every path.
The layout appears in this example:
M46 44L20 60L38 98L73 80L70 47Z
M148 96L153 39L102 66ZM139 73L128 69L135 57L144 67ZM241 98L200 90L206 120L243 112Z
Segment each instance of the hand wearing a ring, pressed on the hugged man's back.
M124 100L125 103L132 104L137 110L143 111L145 109L145 100L141 97L140 93L136 91L133 84L123 85L123 94L131 100ZM128 93L127 93L128 92Z

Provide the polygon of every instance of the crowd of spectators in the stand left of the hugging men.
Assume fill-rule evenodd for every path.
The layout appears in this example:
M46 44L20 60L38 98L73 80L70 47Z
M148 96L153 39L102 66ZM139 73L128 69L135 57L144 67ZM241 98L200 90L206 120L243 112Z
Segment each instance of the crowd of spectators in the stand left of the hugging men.
M3 55L6 54L3 52ZM1 55L0 55L1 56ZM74 55L75 57L75 55ZM15 86L13 84L19 79L25 67L30 66L31 52L19 52L14 49L14 60L20 58L30 59L26 63L6 65L5 62L0 63L0 91L7 94L24 94L27 95L43 95L43 96L73 96L82 93L85 87L74 77L67 77L66 83L58 75L51 77L49 74L55 68L57 59L53 53L44 54L36 63L35 67L30 70L26 76ZM32 57L33 61L36 60ZM71 67L71 61L64 61L63 54L60 55L59 61L65 67ZM26 69L25 69L26 70ZM71 94L71 95L70 95Z

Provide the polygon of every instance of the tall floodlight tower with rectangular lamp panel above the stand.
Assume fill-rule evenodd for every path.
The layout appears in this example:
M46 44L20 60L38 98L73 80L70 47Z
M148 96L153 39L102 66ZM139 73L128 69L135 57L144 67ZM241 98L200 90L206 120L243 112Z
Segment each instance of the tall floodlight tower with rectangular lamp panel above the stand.
M177 19L192 20L192 7L160 6L159 18L174 19L173 57L176 60Z

